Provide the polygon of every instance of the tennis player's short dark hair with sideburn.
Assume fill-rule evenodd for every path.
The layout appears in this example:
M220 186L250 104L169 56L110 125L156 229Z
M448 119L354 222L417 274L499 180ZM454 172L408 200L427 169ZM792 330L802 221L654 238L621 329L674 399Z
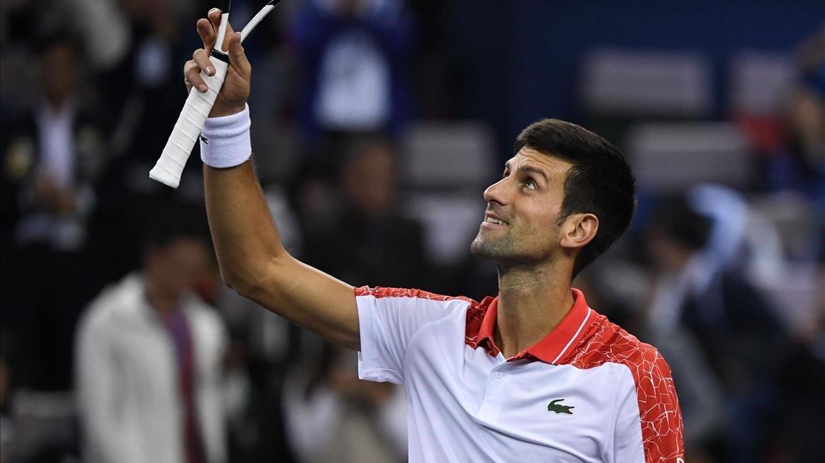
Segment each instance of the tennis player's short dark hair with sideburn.
M576 124L542 119L516 138L513 152L529 147L569 161L559 223L573 213L592 213L599 229L582 247L573 264L573 278L625 233L636 211L636 180L619 148Z

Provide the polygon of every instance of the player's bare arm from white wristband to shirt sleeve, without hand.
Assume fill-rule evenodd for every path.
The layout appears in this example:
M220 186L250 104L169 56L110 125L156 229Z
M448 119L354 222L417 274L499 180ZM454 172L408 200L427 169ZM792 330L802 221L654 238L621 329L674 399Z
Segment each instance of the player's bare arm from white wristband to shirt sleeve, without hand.
M241 295L332 343L359 348L352 287L287 254L252 161L204 166L206 212L224 282Z

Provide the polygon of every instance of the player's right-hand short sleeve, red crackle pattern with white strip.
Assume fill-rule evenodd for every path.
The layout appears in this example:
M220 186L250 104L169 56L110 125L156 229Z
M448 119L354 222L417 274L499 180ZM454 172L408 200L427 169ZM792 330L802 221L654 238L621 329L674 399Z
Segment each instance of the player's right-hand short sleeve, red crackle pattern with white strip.
M639 360L631 367L635 393L617 400L615 461L681 463L684 427L670 367L652 348Z

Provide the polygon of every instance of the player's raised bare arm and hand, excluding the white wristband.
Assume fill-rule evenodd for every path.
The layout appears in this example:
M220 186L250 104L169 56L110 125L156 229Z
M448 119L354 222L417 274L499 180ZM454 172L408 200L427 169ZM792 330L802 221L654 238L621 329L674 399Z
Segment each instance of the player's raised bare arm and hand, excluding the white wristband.
M214 72L209 53L220 12L197 23L204 40L186 63L187 86L203 91L200 70ZM243 54L240 35L227 31L229 72L210 118L238 115L249 96L252 68ZM214 122L214 121L213 121ZM207 120L207 125L210 121ZM346 348L360 347L358 313L353 288L302 264L286 252L262 194L252 161L239 166L204 165L206 212L224 282L280 316L321 334Z

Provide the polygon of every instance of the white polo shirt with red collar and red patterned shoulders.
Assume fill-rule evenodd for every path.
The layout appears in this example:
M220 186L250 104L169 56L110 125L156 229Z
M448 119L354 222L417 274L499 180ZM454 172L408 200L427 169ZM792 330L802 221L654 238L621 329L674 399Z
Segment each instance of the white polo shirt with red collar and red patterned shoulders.
M497 298L356 288L359 375L406 387L409 461L681 463L667 362L573 298L551 333L504 358Z

